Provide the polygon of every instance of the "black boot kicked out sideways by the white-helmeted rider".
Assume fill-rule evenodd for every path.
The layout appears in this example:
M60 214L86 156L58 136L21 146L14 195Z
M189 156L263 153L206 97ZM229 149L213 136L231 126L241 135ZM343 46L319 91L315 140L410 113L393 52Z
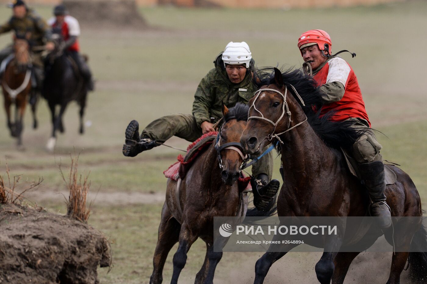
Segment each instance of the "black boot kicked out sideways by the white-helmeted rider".
M123 144L123 155L135 157L142 151L150 150L159 144L149 137L139 137L138 122L132 120L129 122L125 132L125 144Z

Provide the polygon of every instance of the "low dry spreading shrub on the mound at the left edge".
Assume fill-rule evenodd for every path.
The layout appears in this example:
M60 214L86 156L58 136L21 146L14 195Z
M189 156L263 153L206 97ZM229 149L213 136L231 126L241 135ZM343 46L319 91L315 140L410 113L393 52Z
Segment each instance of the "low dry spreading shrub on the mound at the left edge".
M13 180L11 180L10 170L6 163L6 182L8 185L6 186L4 177L0 174L0 204L8 204L8 203L21 203L23 200L23 194L27 191L36 190L37 187L43 182L43 178L38 178L38 181L34 181L31 183L24 182L26 185L24 189L18 193L18 183L21 180L22 175L14 176Z

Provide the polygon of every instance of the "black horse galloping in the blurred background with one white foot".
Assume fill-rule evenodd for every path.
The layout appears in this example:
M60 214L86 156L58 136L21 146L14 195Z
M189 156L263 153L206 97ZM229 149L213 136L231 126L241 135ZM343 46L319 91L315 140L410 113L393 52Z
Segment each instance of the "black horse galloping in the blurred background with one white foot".
M56 35L55 49L47 55L44 61L44 84L43 96L47 100L52 114L52 136L47 142L48 151L53 151L56 145L56 131L64 133L62 116L70 101L79 104L80 128L79 133L83 134L83 115L85 114L86 98L88 91L84 80L70 58L64 53L64 41L60 35ZM59 105L59 113L56 106Z

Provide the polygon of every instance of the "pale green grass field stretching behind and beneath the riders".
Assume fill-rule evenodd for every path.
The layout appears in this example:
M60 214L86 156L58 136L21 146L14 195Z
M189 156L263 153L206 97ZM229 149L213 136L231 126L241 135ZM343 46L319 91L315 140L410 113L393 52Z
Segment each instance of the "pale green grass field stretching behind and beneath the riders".
M45 18L50 16L52 7L36 8ZM356 58L348 54L343 58L357 74L373 127L388 136L378 135L383 145L381 152L385 159L401 164L426 203L427 84L423 79L426 61L422 52L422 47L427 46L425 11L425 1L290 11L155 7L141 9L155 29L83 27L82 51L89 55L97 78L97 90L89 96L85 116L91 126L85 135L77 133L78 110L72 104L64 118L66 133L59 134L55 154L48 154L44 146L50 135L50 114L45 101L40 101L40 128L30 128L27 112L23 133L26 149L18 151L6 128L2 107L0 172L4 172L7 162L12 174L23 174L29 180L44 177L40 188L43 199L36 193L32 199L52 212L65 213L61 200L45 197L64 191L58 164L66 167L70 162L68 154L81 152L80 170L90 171L94 192L100 188L89 223L105 233L113 249L114 267L108 274L105 269L99 270L101 283L148 283L162 206L158 201L148 202L149 196L164 193L166 180L162 171L179 153L158 147L132 159L123 157L121 147L127 123L137 119L144 126L165 114L190 113L197 84L229 41L246 41L258 66L299 67L303 61L296 47L298 36L307 29L320 28L331 35L333 52L348 49L357 53ZM0 8L2 21L9 14L9 9ZM9 40L10 34L1 35L0 46ZM168 142L181 148L187 145L181 139ZM278 163L276 159L275 178L279 177ZM123 194L125 202L111 200L117 193ZM130 194L141 194L141 202L126 203L126 196L135 196ZM204 243L196 242L180 283L194 281L204 251ZM165 265L165 282L170 279L174 252L175 248ZM216 283L250 282L258 255L225 254L218 265ZM319 257L290 253L272 268L268 283L316 283L314 264ZM366 254L357 259L374 257ZM387 255L385 260L390 258ZM387 261L383 263L388 265ZM376 272L377 266L359 261L351 269L346 283L363 283L360 275ZM381 282L386 282L387 270L386 266L380 270Z

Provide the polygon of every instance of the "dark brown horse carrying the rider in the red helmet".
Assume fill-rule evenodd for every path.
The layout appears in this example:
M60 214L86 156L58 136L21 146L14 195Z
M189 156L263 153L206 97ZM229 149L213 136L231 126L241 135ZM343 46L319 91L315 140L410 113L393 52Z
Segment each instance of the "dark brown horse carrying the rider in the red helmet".
M319 118L316 110L321 107L321 93L313 78L298 70L283 74L277 68L272 70L266 68L256 74L261 90L249 101L249 121L240 141L248 154L257 154L271 141L280 142L284 184L277 201L278 215L365 216L369 206L366 188L350 174L337 150L352 145L360 133L349 128L348 122L331 122L328 116ZM392 169L397 181L386 188L392 216L421 216L421 200L414 183L401 169ZM344 236L358 236L356 241L369 243L369 247L384 234L398 248L392 255L387 284L399 283L408 255L412 277L422 278L425 283L427 241L421 218L412 218L412 224L396 219L384 232L371 226L364 235L356 235L357 226L343 224L338 235L325 238L324 253L315 268L319 282L343 283L348 267L359 254L338 252L340 248L351 251L345 250L349 246L342 241ZM281 252L269 249L255 265L254 283L263 283L271 265L295 246L298 244L285 244ZM409 253L413 248L421 252Z

